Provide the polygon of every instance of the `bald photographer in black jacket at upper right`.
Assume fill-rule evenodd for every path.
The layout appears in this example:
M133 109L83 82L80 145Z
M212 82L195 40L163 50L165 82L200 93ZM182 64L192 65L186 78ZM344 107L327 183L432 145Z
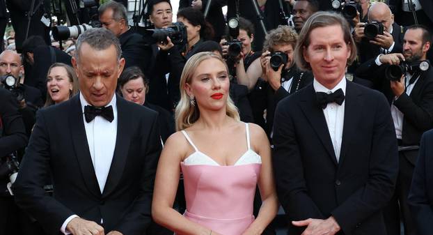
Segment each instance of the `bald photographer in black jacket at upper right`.
M384 34L368 39L364 35L366 23L356 24L354 38L359 43L359 59L363 63L379 54L401 53L404 31L394 22L394 15L386 3L377 2L368 10L368 22L380 22L384 26Z

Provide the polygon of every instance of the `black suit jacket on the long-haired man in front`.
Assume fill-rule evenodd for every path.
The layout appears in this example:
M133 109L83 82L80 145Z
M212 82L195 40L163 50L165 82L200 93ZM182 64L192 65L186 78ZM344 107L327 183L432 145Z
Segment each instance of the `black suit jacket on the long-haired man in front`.
M379 92L347 82L337 162L313 84L278 104L274 121L276 188L288 220L333 216L338 234L385 235L381 208L397 178L395 130ZM303 229L289 225L289 234Z

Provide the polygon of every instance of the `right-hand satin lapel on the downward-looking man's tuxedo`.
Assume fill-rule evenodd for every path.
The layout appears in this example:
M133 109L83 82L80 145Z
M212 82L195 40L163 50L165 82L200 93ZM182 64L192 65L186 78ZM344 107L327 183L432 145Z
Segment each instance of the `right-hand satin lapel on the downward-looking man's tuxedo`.
M131 128L132 121L129 120L131 113L125 110L125 103L128 101L117 96L117 137L116 147L114 149L113 160L111 160L111 166L109 175L107 176L107 183L104 186L104 192L102 197L107 197L118 185L120 179L123 176L123 169L125 168L129 143L131 142L131 134L134 130Z

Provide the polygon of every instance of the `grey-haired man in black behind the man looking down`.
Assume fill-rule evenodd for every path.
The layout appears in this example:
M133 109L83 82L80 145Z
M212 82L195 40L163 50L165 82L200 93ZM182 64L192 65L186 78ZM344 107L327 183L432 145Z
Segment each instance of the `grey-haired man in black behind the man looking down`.
M145 47L143 36L134 33L128 26L125 6L116 1L108 1L102 4L98 11L102 26L113 32L120 40L125 68L138 66L141 70L147 69L150 58L143 56L146 54L147 47Z

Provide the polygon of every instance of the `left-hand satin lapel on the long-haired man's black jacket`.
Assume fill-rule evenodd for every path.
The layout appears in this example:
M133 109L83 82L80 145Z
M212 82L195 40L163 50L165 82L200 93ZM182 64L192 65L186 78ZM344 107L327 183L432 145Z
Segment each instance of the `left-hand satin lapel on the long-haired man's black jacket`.
M303 95L304 97L301 99L301 109L304 112L306 119L310 122L310 125L313 126L317 136L320 138L326 152L328 152L328 156L336 165L338 165L323 110L319 107L315 99L313 84L310 84L308 88L306 88L306 92L304 92Z

